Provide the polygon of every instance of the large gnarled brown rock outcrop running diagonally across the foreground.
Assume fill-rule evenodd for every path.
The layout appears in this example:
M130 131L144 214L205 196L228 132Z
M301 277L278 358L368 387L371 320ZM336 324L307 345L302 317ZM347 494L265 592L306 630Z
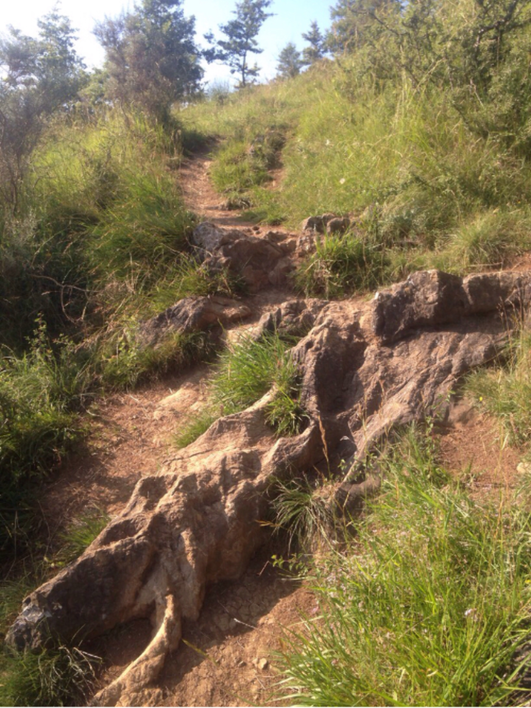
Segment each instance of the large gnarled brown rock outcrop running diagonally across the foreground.
M310 417L304 433L275 438L264 420L270 394L220 418L160 474L139 481L91 547L25 599L7 641L35 647L151 617L152 643L95 699L105 707L144 704L142 687L178 643L181 619L198 617L207 583L237 578L263 542L259 521L273 478L319 464L323 438L330 459L347 460L358 474L357 463L394 426L444 414L459 377L496 356L530 297L527 274L462 280L427 271L371 302L275 310L275 326L294 312L313 322L293 349ZM336 501L355 510L376 488L376 478L352 472Z

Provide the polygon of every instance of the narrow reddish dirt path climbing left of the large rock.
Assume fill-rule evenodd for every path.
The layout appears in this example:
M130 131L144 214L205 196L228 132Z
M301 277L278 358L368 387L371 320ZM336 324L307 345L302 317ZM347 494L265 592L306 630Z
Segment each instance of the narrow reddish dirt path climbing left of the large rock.
M186 207L220 227L234 227L256 236L268 232L268 228L243 221L241 212L222 208L222 197L210 183L211 164L207 149L183 160L178 180ZM292 291L276 287L242 297L251 316L228 329L252 328L264 312L290 297ZM57 527L76 518L87 506L109 515L122 508L137 481L159 469L178 423L190 407L192 411L200 408L209 370L199 365L192 371L144 384L134 392L98 401L89 419L89 439L47 487L43 507ZM185 396L174 396L182 389Z

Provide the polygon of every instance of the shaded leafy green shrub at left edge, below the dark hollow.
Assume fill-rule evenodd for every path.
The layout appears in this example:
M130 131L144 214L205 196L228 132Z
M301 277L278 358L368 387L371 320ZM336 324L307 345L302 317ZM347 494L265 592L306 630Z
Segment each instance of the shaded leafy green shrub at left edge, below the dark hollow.
M90 398L91 381L74 350L61 339L53 351L41 322L28 353L0 359L1 552L37 523L36 482L83 435L75 411Z

